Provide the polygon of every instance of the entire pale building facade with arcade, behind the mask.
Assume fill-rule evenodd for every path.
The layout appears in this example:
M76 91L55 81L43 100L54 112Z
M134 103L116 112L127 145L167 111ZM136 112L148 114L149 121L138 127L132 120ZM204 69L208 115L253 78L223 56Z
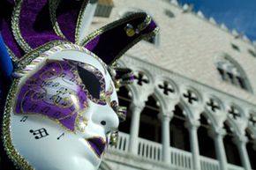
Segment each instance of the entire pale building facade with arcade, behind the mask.
M88 32L134 11L161 29L118 63L136 79L118 91L129 112L101 169L256 169L255 43L174 0L91 3Z

